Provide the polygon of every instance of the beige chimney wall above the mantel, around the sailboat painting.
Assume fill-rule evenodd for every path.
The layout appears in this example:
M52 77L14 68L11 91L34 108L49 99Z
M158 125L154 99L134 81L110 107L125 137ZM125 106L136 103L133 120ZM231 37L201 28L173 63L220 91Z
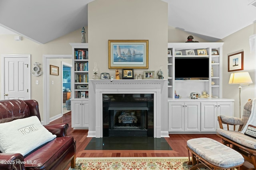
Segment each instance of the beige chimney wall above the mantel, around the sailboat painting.
M141 39L149 41L148 69L134 69L134 73L157 71L163 65L167 77L168 4L161 0L120 2L94 0L88 4L89 70L96 62L100 72L108 72L115 78L115 69L108 69L108 40Z

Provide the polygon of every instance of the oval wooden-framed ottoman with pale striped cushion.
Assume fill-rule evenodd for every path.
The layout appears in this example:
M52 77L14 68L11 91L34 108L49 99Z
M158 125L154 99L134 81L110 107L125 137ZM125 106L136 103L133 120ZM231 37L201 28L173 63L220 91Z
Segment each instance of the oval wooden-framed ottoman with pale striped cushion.
M210 138L202 137L187 141L188 157L192 153L192 167L194 170L207 167L212 170L240 169L244 163L243 156L230 147Z

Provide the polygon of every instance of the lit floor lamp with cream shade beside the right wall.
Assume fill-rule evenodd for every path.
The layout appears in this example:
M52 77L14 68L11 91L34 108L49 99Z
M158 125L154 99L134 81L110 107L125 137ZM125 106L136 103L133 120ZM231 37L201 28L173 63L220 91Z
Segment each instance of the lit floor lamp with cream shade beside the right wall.
M249 72L234 72L231 73L228 84L239 84L239 113L241 118L241 88L252 84L252 79Z

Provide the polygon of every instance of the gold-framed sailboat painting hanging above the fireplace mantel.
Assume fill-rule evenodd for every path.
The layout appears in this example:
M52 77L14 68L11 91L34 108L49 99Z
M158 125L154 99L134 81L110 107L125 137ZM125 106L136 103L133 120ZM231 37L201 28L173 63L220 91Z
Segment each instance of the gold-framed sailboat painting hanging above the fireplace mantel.
M108 68L148 68L148 40L108 40Z

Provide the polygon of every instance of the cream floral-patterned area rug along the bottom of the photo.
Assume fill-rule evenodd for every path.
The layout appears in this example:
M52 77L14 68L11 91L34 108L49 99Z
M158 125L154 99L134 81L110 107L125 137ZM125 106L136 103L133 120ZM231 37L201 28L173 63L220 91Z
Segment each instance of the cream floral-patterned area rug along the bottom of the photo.
M188 157L76 158L69 170L188 170Z

